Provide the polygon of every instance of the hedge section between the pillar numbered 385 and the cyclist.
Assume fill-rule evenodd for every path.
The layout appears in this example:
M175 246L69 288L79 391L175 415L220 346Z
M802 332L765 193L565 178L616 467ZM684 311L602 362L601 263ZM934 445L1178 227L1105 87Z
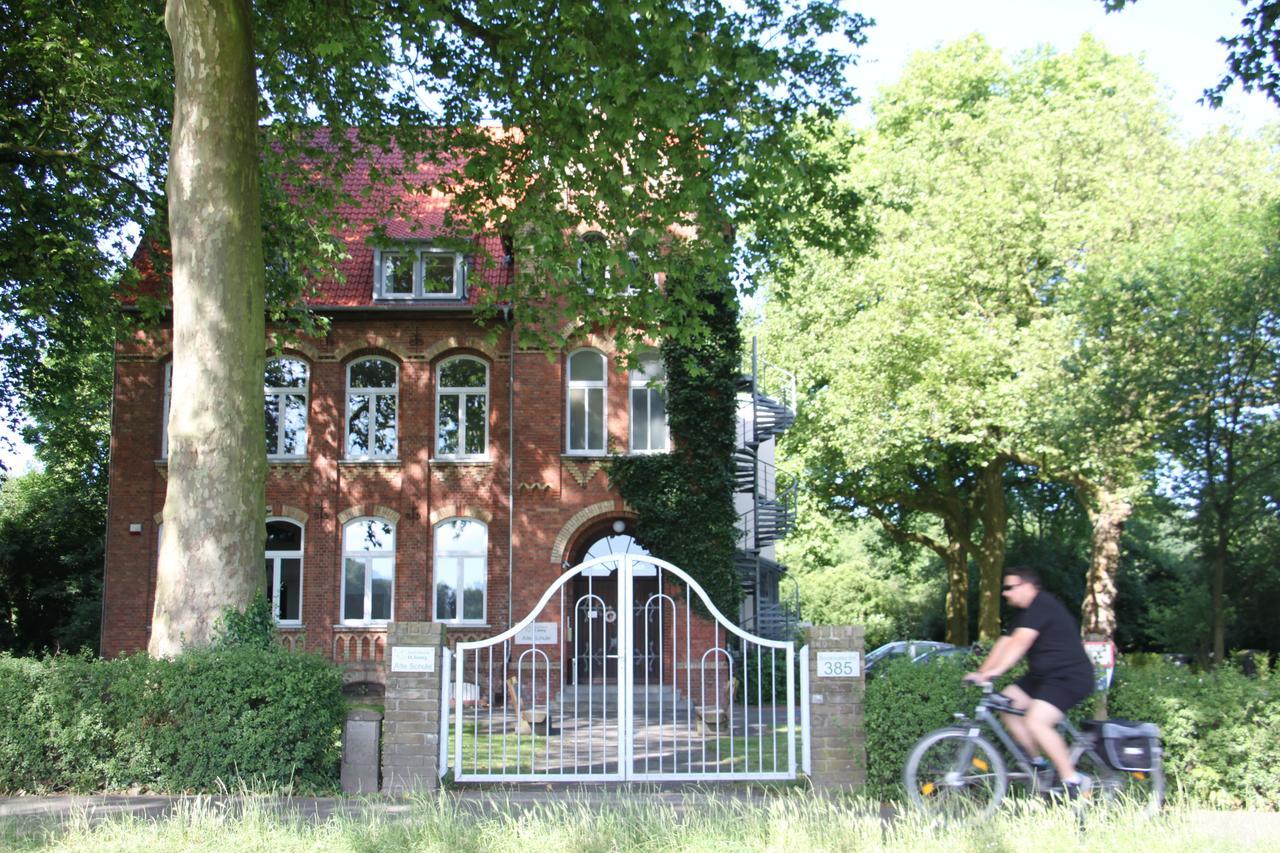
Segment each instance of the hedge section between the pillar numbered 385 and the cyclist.
M922 736L946 726L952 713L972 712L979 692L961 681L977 660L963 656L911 663L887 661L867 679L863 719L867 726L867 793L902 798L902 767ZM1001 685L1010 676L1001 679Z

